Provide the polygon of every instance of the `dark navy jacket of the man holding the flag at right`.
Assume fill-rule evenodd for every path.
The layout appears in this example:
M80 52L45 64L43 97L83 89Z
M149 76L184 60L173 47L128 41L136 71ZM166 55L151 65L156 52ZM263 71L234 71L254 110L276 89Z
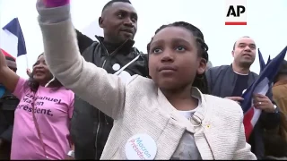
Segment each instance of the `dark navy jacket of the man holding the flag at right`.
M205 72L205 74L211 95L217 97L230 97L232 95L237 80L237 74L233 72L232 65L213 67ZM249 72L248 87L251 86L257 78L257 73ZM273 100L271 89L269 89L266 96L269 97L270 100ZM265 129L276 128L279 122L280 116L278 113L262 112L260 115L248 140L248 143L251 145L251 151L257 156L257 159L262 159L265 154L263 142Z

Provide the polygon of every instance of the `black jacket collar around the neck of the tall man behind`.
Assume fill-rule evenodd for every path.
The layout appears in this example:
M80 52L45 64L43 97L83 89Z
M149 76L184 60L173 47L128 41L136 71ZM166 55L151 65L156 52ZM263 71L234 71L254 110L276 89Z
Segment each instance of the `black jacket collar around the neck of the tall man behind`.
M98 41L100 42L100 46L101 47L104 47L105 50L107 51L107 54L111 54L108 52L107 48L105 47L104 45L104 38L103 37L100 37L100 36L97 36L95 35L95 37L98 39ZM127 52L123 52L124 55L128 55L131 51L131 49L134 47L134 44L135 44L135 41L132 40L132 39L127 39L122 45L120 45L115 51L116 52L113 52L113 53L117 53L118 51L127 51Z

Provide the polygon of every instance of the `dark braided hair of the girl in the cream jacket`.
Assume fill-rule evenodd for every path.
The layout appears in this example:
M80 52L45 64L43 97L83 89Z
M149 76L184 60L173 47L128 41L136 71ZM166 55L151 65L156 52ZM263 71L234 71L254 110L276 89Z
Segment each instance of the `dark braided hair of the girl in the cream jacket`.
M200 55L202 58L204 58L206 60L206 63L208 62L208 53L207 53L208 47L204 42L204 34L201 32L201 30L197 29L196 26L194 26L190 23L187 23L185 21L176 21L176 22L170 23L168 25L162 25L160 29L155 31L155 34L157 34L160 30L165 29L167 27L181 27L181 28L184 28L186 30L189 30L194 35L194 37L196 38L198 55ZM151 40L151 42L152 42L152 40ZM148 53L150 51L151 42L147 45ZM203 92L204 94L209 94L207 79L206 79L205 73L196 74L196 78L195 78L192 86L200 89L200 91Z

